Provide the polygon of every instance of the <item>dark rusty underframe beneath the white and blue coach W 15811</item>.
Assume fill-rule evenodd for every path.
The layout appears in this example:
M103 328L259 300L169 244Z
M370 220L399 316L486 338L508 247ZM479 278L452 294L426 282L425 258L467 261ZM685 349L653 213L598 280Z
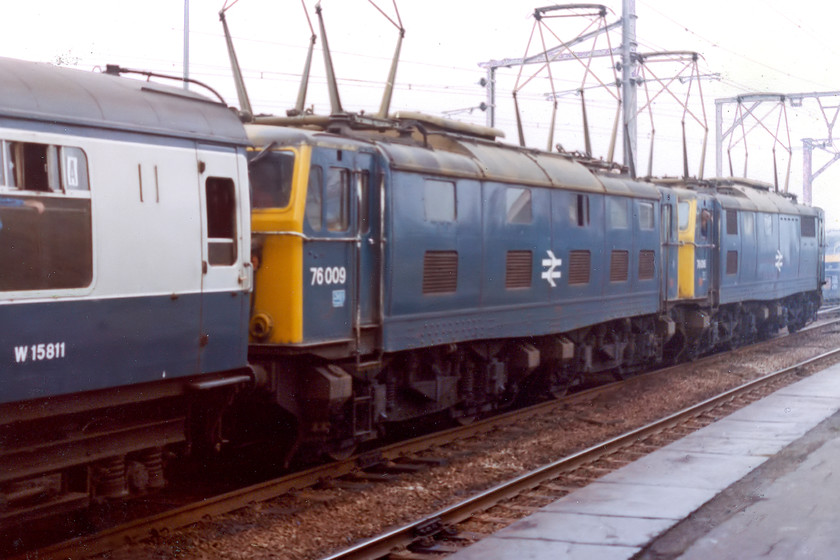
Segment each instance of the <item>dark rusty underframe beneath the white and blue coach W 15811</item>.
M177 456L214 453L250 370L0 405L0 525L156 492Z

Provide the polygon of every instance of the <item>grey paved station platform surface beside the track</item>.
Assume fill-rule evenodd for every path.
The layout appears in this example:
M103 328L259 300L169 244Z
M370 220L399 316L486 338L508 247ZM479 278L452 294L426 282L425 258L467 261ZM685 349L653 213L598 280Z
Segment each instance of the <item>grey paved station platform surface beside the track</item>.
M840 558L838 411L840 365L642 457L450 558Z

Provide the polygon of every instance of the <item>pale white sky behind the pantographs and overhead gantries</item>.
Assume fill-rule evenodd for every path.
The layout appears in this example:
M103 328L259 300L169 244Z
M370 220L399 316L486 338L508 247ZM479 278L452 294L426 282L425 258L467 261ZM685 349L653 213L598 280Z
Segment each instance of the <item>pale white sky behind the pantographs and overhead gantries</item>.
M220 91L229 104L238 105L229 69L218 11L223 0L192 0L190 3L190 75ZM420 110L440 115L445 111L476 107L485 101L477 82L486 76L482 61L521 57L533 25L531 14L539 0L397 0L406 37L397 74L392 111ZM621 15L620 0L605 0ZM6 6L0 21L0 56L57 62L81 69L115 63L131 68L181 75L183 68L184 6L181 0L113 2L105 0L29 0ZM391 0L377 0L394 14ZM328 39L340 80L345 110L378 110L382 87L396 45L397 30L366 0L322 0ZM317 32L314 0L307 0ZM720 73L718 81L702 82L709 126L705 176L715 174L714 99L747 92L813 92L840 90L840 43L837 16L840 5L825 0L636 0L639 51L691 50L703 56L703 74ZM256 112L284 114L294 105L309 41L309 28L299 0L239 0L227 12L246 85ZM561 38L571 39L577 25L554 25ZM613 46L620 36L612 35ZM316 45L313 78L307 106L318 113L329 111L324 66ZM554 43L556 44L556 43ZM548 44L549 47L554 44ZM605 46L600 44L599 46ZM530 54L536 54L533 46ZM596 59L599 75L609 59ZM575 89L583 73L576 63L552 66L557 90ZM528 67L525 72L532 72ZM667 75L664 67L657 72ZM511 89L516 70L500 70L497 89L497 128L507 141L517 142ZM548 139L550 92L548 80L533 80L520 93L528 145L545 148ZM591 82L588 82L591 83ZM696 88L696 85L694 86ZM195 88L193 88L195 89ZM684 91L684 88L683 90ZM693 91L696 91L693 90ZM587 92L593 151L606 156L615 105L603 92ZM835 101L835 100L832 100ZM640 105L643 93L639 92ZM835 101L836 102L836 101ZM690 104L700 111L699 97ZM563 98L554 134L555 143L582 150L580 100ZM766 105L763 112L770 110ZM827 109L833 118L835 109ZM654 112L656 143L653 172L682 173L681 109L660 97ZM814 100L801 109L787 107L791 123L790 190L801 192L802 138L827 137L826 126ZM452 118L485 123L485 114L475 109ZM640 173L647 172L650 126L639 117ZM775 119L768 126L775 127ZM782 134L787 134L782 128ZM689 125L689 171L699 170L702 129ZM773 180L770 137L751 133L748 175ZM620 154L620 151L618 152ZM782 181L787 157L777 148ZM617 156L620 160L620 155ZM814 170L829 161L814 153ZM743 171L743 153L736 151L735 174ZM728 165L724 165L728 174ZM814 182L814 204L823 207L829 225L840 227L840 162ZM835 210L836 209L836 210Z

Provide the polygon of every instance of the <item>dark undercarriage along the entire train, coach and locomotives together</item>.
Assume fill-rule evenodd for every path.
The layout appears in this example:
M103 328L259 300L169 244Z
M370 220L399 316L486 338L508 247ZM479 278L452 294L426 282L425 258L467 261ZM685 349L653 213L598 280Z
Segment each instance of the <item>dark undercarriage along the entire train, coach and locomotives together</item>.
M631 374L796 331L819 304L813 292L677 305L558 335L364 360L275 348L252 356L253 371L3 405L0 523L156 491L167 461L182 456L250 446L270 449L278 466L340 458L419 419L465 423L526 396L560 396L598 373Z

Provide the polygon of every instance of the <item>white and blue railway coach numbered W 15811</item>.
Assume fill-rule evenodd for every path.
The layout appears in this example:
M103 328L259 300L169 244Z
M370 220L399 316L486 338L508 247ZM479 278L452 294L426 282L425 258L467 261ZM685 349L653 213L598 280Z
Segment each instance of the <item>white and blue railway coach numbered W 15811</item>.
M246 144L183 89L0 59L0 524L218 441L251 379Z

